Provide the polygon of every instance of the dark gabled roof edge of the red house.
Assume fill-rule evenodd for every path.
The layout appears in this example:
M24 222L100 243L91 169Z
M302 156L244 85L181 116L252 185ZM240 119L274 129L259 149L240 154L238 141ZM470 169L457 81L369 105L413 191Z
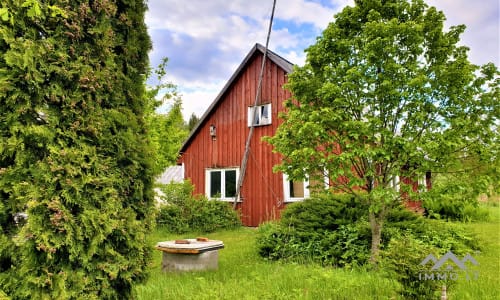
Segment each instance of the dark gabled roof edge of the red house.
M189 136L186 139L186 141L184 142L184 144L182 144L182 147L181 147L181 150L180 150L181 153L184 152L184 150L186 150L187 146L191 143L191 141L193 140L193 138L198 133L198 130L202 127L202 125L208 119L208 116L210 116L212 114L212 112L215 110L215 108L217 107L217 105L219 104L219 102L222 101L222 99L224 98L224 95L226 94L226 92L233 85L233 82L243 72L243 70L245 69L246 65L249 63L249 61L255 55L255 53L260 52L260 53L264 54L265 50L266 50L266 48L264 46L262 46L261 44L257 43L257 44L255 44L255 46L253 46L252 50L250 50L250 52L247 54L247 56L245 57L245 59L243 59L243 61L239 65L239 67L233 73L233 75L231 76L231 78L229 78L228 82L222 88L222 90L217 95L217 97L215 98L215 100L212 102L212 104L210 104L210 106L205 111L205 113L203 114L203 116L201 116L200 121L193 128L193 130L189 134ZM267 49L267 58L269 58L272 62L274 62L276 65L278 65L280 68L282 68L286 73L291 73L292 72L292 70L293 70L293 64L291 62L289 62L288 60L284 59L283 57L279 56L278 54L272 52L269 49Z

